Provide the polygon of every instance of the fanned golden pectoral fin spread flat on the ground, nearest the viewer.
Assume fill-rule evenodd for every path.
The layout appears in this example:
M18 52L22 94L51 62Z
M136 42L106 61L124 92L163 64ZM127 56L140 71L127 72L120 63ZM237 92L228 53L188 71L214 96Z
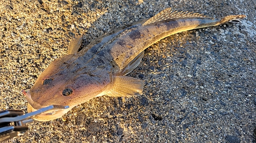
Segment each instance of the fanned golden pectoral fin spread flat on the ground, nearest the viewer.
M142 94L144 81L129 76L115 76L114 85L107 93L108 96L129 97Z

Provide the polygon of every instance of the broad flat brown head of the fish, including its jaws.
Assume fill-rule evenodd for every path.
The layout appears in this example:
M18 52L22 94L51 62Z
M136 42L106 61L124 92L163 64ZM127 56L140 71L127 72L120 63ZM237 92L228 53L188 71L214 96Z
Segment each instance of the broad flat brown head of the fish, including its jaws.
M34 120L51 121L60 118L74 106L105 94L104 91L111 81L110 74L97 68L77 67L78 64L74 61L70 55L53 61L25 94L28 112L49 105L70 108L51 110L34 117ZM67 64L69 62L74 65Z

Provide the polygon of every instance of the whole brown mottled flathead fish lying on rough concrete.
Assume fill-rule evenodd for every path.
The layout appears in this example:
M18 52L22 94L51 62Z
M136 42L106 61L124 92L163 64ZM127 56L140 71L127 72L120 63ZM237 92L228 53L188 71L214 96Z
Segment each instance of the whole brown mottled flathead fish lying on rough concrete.
M239 23L245 15L212 18L167 8L155 16L126 24L100 36L80 51L82 36L73 38L68 54L53 61L25 93L28 112L49 105L69 106L33 117L46 122L61 118L76 105L95 97L140 96L144 81L127 76L141 62L144 50L170 35L197 28Z

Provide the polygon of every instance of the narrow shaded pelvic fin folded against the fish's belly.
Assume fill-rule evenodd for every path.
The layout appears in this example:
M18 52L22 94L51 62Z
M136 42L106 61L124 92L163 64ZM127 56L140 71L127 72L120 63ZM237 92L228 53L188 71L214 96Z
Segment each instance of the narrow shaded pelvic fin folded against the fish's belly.
M138 67L138 65L140 64L140 61L142 59L144 55L144 51L142 51L140 54L138 54L136 56L136 58L133 59L133 61L131 63L129 63L129 65L127 65L122 72L119 75L126 75L129 74L130 72L132 72L136 67Z

